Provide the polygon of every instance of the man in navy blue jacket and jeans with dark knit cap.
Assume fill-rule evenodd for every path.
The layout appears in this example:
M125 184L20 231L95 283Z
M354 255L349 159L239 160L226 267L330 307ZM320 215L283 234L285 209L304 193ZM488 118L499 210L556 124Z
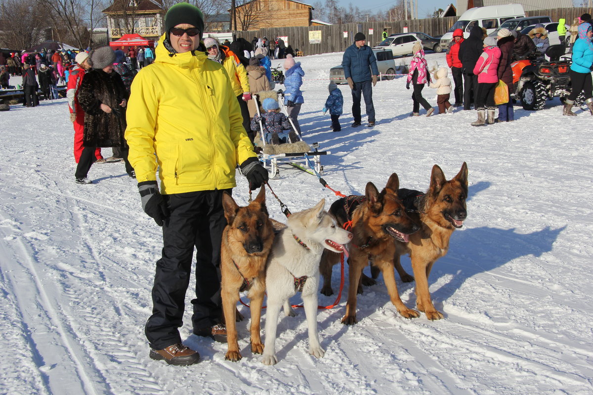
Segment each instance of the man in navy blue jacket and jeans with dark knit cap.
M365 45L366 37L356 33L354 44L347 47L342 58L344 76L348 86L352 89L352 127L361 126L361 95L365 97L368 126L375 126L375 107L372 104L372 86L377 84L377 59L371 47ZM372 86L371 86L372 83Z

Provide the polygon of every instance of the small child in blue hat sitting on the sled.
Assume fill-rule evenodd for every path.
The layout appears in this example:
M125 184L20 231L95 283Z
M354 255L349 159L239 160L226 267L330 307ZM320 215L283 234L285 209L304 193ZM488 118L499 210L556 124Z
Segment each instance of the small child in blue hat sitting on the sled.
M251 120L251 130L259 131L259 122L262 121L263 138L266 144L294 143L298 137L291 130L291 124L286 115L280 113L278 102L272 98L266 98L262 102L265 111L262 115L255 115ZM285 130L291 130L290 133Z

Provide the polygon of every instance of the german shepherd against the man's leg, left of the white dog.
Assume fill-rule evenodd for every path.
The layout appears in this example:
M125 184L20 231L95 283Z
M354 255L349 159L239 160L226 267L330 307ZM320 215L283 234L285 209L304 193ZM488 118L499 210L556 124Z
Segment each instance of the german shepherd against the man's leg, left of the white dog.
M248 290L251 310L251 352L262 354L260 317L266 293L266 261L272 250L274 230L266 208L266 190L246 207L239 207L231 195L222 195L227 227L222 233L221 296L227 325L228 351L225 359L239 361L242 357L237 341L235 314L239 293Z

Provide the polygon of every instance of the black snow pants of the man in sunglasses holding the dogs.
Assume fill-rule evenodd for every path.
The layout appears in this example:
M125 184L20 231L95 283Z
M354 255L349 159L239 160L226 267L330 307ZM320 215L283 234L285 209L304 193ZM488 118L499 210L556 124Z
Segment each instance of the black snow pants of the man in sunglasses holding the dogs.
M196 191L163 195L171 216L162 226L162 257L152 287L152 316L145 326L153 349L181 342L185 296L196 253L196 298L192 300L194 329L219 323L222 317L220 251L227 220L222 192Z

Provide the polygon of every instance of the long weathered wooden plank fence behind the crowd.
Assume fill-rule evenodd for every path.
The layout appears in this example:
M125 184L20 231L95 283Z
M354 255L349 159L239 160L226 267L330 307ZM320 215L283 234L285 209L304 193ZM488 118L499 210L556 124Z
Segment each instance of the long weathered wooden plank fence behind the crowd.
M570 25L573 18L580 17L585 12L591 14L591 8L553 8L539 9L537 11L525 12L527 16L549 15L552 21L565 18L566 24ZM403 33L404 27L407 31L422 31L429 36L439 36L446 33L459 17L427 18L397 22L364 22L347 23L329 26L296 26L296 27L272 27L253 31L234 31L236 37L243 37L251 41L253 37L267 37L272 40L275 37L286 36L292 49L302 51L304 55L321 54L330 52L342 52L352 45L356 32L365 34L367 43L375 46L380 43L383 28L387 27L389 34ZM321 31L321 42L310 42L310 31ZM372 34L370 34L372 31ZM313 37L319 37L318 33ZM312 38L313 38L312 37ZM312 40L314 41L314 40Z

